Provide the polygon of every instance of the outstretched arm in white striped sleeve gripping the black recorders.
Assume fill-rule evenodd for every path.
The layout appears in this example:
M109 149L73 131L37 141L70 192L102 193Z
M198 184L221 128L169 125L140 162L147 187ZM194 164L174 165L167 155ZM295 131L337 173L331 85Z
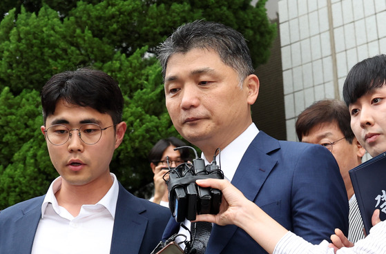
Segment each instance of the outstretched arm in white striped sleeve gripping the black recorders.
M331 235L332 243L323 240L320 244L311 244L278 224L226 179L203 179L196 183L202 187L218 188L223 195L220 213L197 215L196 221L220 226L235 224L270 254L386 253L386 221L380 222L379 210L374 211L372 223L375 226L369 235L355 245L339 229L336 229L336 235Z

